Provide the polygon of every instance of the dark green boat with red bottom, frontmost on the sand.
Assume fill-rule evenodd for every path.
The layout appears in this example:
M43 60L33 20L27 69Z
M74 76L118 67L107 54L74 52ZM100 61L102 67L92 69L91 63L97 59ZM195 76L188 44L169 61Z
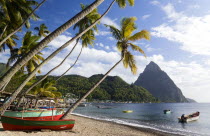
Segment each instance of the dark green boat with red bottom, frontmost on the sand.
M2 116L4 130L67 130L74 127L75 120L32 120Z

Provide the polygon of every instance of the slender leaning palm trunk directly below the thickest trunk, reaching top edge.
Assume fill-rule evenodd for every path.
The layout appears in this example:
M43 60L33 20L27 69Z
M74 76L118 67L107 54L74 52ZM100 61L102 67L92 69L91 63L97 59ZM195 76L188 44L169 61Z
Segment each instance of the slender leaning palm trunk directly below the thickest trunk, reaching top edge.
M17 90L12 94L11 98L2 106L2 112L1 115L4 114L5 110L9 107L9 105L14 101L14 99L17 97L17 95L20 93L20 91L23 89L23 87L26 85L26 83L34 77L36 72L48 61L50 61L55 55L57 55L61 50L63 50L65 47L67 47L70 43L72 43L74 40L78 39L81 37L84 33L86 33L88 30L90 30L93 26L95 26L101 19L104 17L109 10L111 9L112 5L114 4L115 0L112 2L112 4L109 6L109 8L106 10L106 12L97 20L95 21L92 25L90 25L87 29L79 33L77 36L72 38L71 40L67 41L64 45L62 45L60 48L58 48L56 51L54 51L50 56L48 56L36 69L30 73L30 75L23 81L23 83L17 88Z

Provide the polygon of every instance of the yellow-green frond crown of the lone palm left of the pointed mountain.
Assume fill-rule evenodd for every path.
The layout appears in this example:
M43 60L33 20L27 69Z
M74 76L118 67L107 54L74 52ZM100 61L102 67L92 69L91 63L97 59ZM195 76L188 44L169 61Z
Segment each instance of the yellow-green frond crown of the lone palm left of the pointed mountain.
M126 0L124 0L124 2L123 0L119 0L119 2L122 2L121 4L123 3L126 4ZM130 2L132 2L132 0ZM133 51L138 51L142 53L145 57L146 55L139 46L134 45L131 42L141 40L143 38L146 40L150 39L150 33L146 30L142 30L140 32L133 34L133 32L137 29L135 24L136 20L137 20L136 17L123 18L121 21L120 29L112 25L105 25L106 27L109 27L113 37L117 40L116 46L117 49L121 52L124 67L125 68L129 67L133 74L136 74L137 66L135 58L132 52L129 51L129 49L132 49Z

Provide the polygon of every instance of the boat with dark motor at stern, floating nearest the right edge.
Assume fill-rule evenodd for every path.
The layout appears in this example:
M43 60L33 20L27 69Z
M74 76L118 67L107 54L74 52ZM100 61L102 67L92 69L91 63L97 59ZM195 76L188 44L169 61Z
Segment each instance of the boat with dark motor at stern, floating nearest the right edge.
M199 119L200 112L195 112L189 115L182 115L181 117L178 118L179 122L185 123L185 122L191 122L191 121L196 121Z

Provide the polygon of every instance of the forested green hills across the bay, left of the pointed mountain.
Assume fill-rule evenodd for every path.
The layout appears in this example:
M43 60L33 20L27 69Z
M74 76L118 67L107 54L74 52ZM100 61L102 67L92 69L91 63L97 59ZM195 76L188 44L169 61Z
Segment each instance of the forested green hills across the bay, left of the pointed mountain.
M83 96L103 75L93 75L86 78L79 75L67 75L60 79L56 88L65 96L67 93ZM56 77L50 76L50 79ZM118 76L108 76L96 90L88 96L89 100L113 100L133 102L157 102L146 89L130 85Z

